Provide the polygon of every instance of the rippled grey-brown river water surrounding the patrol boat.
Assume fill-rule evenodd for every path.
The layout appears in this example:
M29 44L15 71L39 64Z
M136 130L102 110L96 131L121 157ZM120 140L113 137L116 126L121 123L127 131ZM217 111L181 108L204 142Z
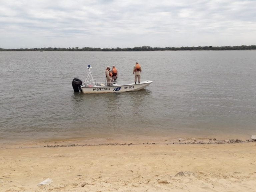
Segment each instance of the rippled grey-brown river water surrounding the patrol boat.
M153 83L124 93L74 93L74 77ZM256 134L256 51L0 52L0 142Z

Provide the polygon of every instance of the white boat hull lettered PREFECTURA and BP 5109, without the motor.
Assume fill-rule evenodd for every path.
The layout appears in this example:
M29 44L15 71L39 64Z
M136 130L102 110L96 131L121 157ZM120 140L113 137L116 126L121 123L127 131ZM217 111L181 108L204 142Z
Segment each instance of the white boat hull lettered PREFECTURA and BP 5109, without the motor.
M110 86L81 86L83 93L111 93L111 92L127 92L127 91L138 91L144 89L146 86L150 85L152 81L141 80L139 84L127 83L127 84L117 84Z

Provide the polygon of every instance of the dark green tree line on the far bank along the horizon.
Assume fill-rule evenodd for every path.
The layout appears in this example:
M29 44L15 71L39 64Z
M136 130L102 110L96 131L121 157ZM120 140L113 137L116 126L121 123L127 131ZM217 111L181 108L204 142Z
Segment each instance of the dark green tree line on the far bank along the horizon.
M19 48L19 49L2 49L0 51L189 51L189 50L256 50L256 45L241 45L241 46L222 46L222 47L213 47L213 46L204 46L204 47L133 47L133 48L92 48L92 47L72 47L72 48L57 48L57 47L44 47L44 48Z

